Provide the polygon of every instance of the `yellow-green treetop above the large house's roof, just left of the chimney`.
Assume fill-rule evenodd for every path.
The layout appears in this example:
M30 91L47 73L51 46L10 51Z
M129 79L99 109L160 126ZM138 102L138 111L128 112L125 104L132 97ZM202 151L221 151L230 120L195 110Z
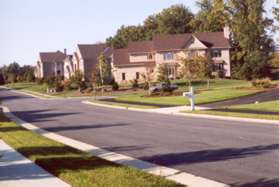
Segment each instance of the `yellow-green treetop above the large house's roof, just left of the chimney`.
M191 25L197 31L222 31L228 24L229 13L224 0L198 0L196 4L200 11Z

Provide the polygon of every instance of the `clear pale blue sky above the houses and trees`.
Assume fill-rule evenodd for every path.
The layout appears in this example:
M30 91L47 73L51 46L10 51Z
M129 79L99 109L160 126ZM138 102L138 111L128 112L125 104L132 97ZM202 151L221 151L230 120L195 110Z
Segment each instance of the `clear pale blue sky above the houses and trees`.
M275 1L266 2L268 16ZM121 25L181 3L197 12L195 0L0 0L0 66L35 65L39 52L72 53L77 44L105 41Z

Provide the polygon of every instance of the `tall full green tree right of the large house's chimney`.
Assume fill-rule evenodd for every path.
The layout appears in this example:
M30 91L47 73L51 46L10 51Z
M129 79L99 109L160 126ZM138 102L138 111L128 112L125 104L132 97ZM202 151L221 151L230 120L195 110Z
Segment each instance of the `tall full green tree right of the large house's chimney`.
M263 13L265 0L230 0L233 32L233 76L255 79L269 76L273 40L267 34L272 21Z

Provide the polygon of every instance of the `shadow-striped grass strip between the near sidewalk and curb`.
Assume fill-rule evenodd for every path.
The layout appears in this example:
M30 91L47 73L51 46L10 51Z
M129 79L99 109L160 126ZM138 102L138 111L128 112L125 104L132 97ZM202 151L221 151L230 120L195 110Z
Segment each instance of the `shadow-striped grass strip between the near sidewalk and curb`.
M182 186L117 165L47 139L10 122L0 113L0 139L73 187Z

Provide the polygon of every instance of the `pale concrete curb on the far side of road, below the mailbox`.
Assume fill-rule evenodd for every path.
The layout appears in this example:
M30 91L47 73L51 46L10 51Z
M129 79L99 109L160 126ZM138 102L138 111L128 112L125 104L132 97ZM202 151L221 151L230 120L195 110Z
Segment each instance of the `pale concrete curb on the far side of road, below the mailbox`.
M93 103L90 101L82 101L83 104L101 106L114 109L138 111L138 112L147 112L147 113L156 113L156 114L165 114L165 115L174 115L174 116L184 116L192 118L205 118L205 119L216 119L216 120L225 120L225 121L237 121L237 122L250 122L250 123L260 123L260 124L271 124L279 125L279 120L267 120L267 119L253 119L253 118L241 118L241 117L229 117L229 116L217 116L217 115L208 115L208 114L191 114L191 113L182 113L182 112L173 112L173 113L163 113L159 111L154 111L153 109L136 109L129 107L118 107L110 106L106 104Z

